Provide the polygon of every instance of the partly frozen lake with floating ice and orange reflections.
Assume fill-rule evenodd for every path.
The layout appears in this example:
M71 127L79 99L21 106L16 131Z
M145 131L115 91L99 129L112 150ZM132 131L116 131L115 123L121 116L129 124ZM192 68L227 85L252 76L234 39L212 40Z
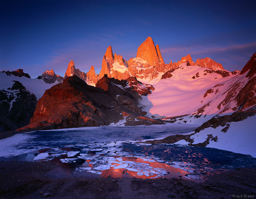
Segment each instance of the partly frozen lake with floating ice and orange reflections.
M256 167L256 159L249 155L214 148L138 143L189 133L196 127L100 126L16 134L0 140L0 160L54 161L72 171L64 173L87 177L182 176L199 181L223 169Z

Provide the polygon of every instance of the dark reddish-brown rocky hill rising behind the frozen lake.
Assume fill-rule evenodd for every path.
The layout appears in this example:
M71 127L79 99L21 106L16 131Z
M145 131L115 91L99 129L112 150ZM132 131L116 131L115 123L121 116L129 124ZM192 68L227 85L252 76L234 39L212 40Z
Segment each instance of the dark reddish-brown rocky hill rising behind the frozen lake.
M123 112L130 117L144 116L146 112L140 108L138 99L140 95L125 80L105 75L93 87L73 75L45 91L30 124L19 130L109 125L124 119ZM140 124L154 124L140 120L143 121Z

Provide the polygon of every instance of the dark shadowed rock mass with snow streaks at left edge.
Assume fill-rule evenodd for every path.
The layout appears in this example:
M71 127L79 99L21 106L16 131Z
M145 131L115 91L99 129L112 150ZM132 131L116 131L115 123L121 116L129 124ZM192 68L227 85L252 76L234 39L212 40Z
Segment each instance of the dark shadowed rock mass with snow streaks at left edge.
M27 91L22 83L13 82L11 88L0 90L0 132L28 125L37 105L34 94Z

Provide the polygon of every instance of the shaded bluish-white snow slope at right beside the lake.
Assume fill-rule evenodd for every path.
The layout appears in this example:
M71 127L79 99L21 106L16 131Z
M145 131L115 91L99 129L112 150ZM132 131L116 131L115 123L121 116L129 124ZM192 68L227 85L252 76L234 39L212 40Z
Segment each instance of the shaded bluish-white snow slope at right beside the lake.
M248 117L242 121L228 122L226 126L229 125L229 128L226 132L222 131L222 129L226 126L218 126L217 128L209 127L201 130L196 134L193 134L190 138L193 139L193 144L198 144L205 142L209 135L212 135L212 137L217 136L217 141L210 139L209 144L206 147L217 148L246 155L248 154L256 157L255 121L256 115ZM188 144L188 142L185 140L180 140L175 144Z

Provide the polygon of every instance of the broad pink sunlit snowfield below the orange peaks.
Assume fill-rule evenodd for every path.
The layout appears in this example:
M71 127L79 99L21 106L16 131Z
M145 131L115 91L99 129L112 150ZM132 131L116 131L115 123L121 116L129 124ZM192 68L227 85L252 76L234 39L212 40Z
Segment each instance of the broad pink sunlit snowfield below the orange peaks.
M204 94L208 89L236 76L230 73L230 76L223 78L221 74L208 73L206 70L208 68L187 66L184 63L172 72L171 78L161 79L155 83L155 90L141 102L148 116L174 117L192 114L213 100L210 95L204 100ZM208 114L217 112L217 106L211 106L211 110L208 110Z

